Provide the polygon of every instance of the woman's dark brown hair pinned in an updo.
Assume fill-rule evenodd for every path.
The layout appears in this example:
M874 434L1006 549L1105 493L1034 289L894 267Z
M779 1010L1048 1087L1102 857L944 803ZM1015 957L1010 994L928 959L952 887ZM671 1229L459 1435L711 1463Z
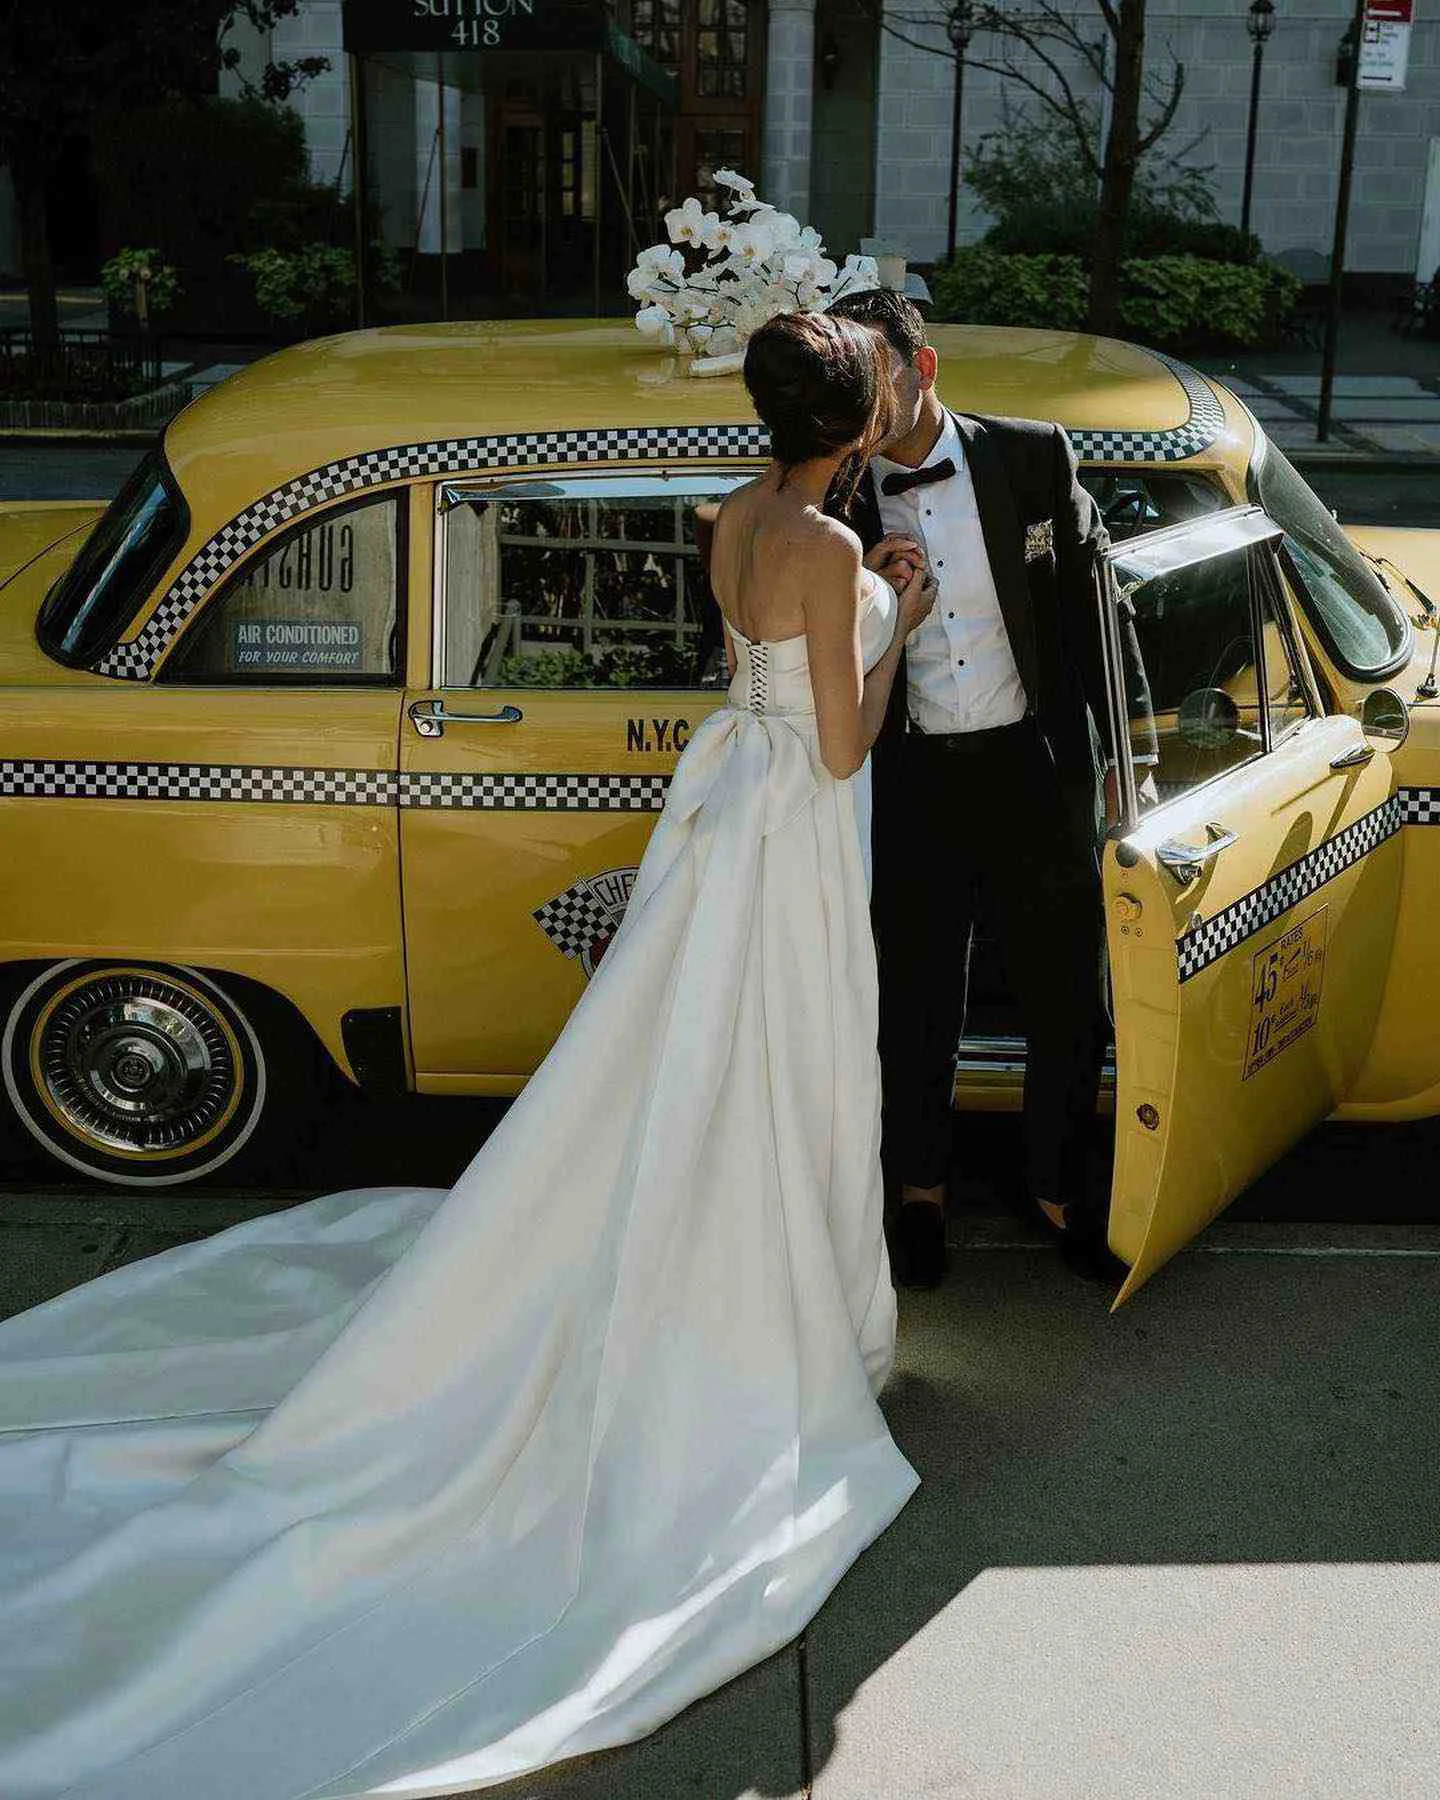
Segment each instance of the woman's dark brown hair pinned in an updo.
M895 428L880 335L835 313L779 313L763 324L745 346L745 387L785 473L797 463L850 452L832 488L841 504Z

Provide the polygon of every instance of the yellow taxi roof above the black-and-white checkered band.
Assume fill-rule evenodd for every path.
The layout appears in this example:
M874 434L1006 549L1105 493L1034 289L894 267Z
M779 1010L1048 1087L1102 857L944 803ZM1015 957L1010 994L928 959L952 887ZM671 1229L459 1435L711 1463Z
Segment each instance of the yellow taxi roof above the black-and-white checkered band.
M940 394L958 410L1120 434L1170 432L1192 418L1177 365L1116 338L940 324L931 342ZM1211 392L1226 428L1192 466L1244 466L1244 414ZM193 400L167 427L166 454L200 524L328 463L394 445L752 421L738 374L689 376L682 358L643 340L630 320L454 320L275 351Z

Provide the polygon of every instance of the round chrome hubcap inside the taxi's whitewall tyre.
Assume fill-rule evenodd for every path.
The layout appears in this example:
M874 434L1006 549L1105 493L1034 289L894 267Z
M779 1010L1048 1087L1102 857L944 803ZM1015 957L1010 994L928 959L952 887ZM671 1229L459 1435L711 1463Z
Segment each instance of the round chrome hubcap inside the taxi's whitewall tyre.
M40 1076L77 1138L175 1152L230 1107L241 1071L214 1012L155 976L101 976L41 1026Z

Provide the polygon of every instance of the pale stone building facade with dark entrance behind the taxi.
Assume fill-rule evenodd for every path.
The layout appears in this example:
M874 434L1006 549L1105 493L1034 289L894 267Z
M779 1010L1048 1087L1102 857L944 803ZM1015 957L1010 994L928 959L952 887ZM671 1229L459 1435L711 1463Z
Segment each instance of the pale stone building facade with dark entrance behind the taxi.
M464 22L565 4L394 0L394 11ZM1096 0L1067 4L1100 40ZM1195 160L1211 167L1219 212L1231 221L1240 218L1249 117L1247 4L1150 0L1147 25L1150 76L1163 81L1172 59L1184 67L1168 142L1199 140ZM293 101L313 175L349 187L351 137L364 117L385 241L419 256L441 245L472 256L479 292L511 304L563 293L567 283L583 301L578 272L587 254L594 261L607 245L614 274L637 243L661 234L666 205L689 193L713 202L713 171L725 166L814 223L833 254L862 238L887 239L913 263L943 254L954 61L940 0L614 0L608 11L666 72L673 99L659 108L662 117L652 117L652 106L648 122L625 126L628 175L603 218L598 196L623 130L614 101L598 128L583 68L567 85L542 77L544 58L506 61L479 47L443 59L351 58L340 0L301 0L268 36L241 36L238 27L236 41L248 76L268 58L328 56L329 70ZM1404 92L1366 92L1361 103L1346 266L1429 279L1440 265L1440 0L1415 0L1415 14ZM1316 263L1328 256L1345 112L1336 61L1350 16L1352 0L1276 0L1253 198L1253 227L1271 254L1309 252ZM1001 58L992 36L976 34L968 54L965 155L1001 130L1006 106L1035 108L1015 81L986 67ZM221 88L234 92L238 81L225 76ZM1076 86L1102 104L1094 79L1087 86L1078 74ZM0 263L14 272L7 202L0 171ZM985 227L961 184L959 241ZM617 281L607 281L607 295L616 304Z

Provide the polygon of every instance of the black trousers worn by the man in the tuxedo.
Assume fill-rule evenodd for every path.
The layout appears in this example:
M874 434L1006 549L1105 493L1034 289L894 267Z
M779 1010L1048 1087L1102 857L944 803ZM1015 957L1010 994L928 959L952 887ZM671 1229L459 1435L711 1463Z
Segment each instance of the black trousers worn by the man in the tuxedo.
M1093 826L1066 803L1031 718L954 738L911 731L896 751L898 779L877 794L875 857L886 1170L918 1188L947 1179L968 945L981 920L999 940L1028 1039L1030 1193L1093 1204L1107 1039Z

